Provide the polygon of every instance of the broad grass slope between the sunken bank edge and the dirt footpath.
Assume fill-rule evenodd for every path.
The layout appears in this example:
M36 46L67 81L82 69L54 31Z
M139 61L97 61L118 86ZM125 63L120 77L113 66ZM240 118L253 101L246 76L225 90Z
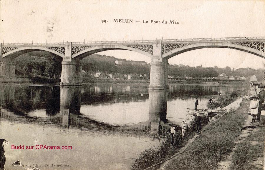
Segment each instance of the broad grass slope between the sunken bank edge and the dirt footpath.
M185 149L185 154L171 161L167 169L217 169L218 162L235 146L234 141L241 133L248 107L249 101L243 100L236 111L206 126L203 133Z

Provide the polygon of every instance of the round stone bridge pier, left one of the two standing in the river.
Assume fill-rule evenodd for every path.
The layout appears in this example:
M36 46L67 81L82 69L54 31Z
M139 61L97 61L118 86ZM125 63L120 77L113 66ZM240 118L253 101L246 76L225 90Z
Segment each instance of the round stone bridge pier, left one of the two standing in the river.
M61 86L82 85L82 65L79 59L72 59L72 43L65 46L62 60Z

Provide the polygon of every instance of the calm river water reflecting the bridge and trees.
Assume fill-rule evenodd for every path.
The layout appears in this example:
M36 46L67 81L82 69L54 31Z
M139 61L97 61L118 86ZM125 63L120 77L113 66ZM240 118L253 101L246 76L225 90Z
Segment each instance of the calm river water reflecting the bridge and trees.
M183 119L191 119L186 108L194 108L196 96L198 109L206 109L207 99L217 99L218 92L242 89L171 84L169 90L148 91L148 84L1 84L0 132L9 141L4 144L5 169L33 164L41 170L129 169L138 154L162 142L171 123L181 126ZM72 149L36 149L37 145ZM11 166L16 160L24 166Z

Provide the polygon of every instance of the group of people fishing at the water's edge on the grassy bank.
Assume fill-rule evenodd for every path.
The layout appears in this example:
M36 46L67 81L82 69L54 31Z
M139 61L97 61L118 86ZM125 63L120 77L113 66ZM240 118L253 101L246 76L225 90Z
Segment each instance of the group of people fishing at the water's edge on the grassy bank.
M168 133L168 146L172 146L172 145L177 145L180 143L180 141L182 139L184 139L185 137L185 131L188 129L188 124L186 123L186 121L182 121L183 122L183 126L181 127L181 130L178 129L176 132L176 128L173 124L171 124L171 128L168 129L167 133ZM193 114L191 122L190 122L190 127L192 129L196 129L197 135L200 134L200 130L201 130L201 115L198 111L195 112L195 114Z

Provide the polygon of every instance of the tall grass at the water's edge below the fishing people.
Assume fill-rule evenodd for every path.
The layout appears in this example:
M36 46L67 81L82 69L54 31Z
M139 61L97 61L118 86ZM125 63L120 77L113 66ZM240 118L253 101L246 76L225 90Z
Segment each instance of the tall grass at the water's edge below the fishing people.
M202 126L205 126L206 119L208 118L202 116ZM191 139L196 134L196 130L188 128L185 131L185 138L180 141L176 146L168 146L167 142L163 142L160 146L152 146L145 151L143 151L138 158L135 159L134 164L131 169L145 169L160 161L169 158L173 154L179 151L180 148L188 143L188 139ZM176 136L175 136L176 137Z

